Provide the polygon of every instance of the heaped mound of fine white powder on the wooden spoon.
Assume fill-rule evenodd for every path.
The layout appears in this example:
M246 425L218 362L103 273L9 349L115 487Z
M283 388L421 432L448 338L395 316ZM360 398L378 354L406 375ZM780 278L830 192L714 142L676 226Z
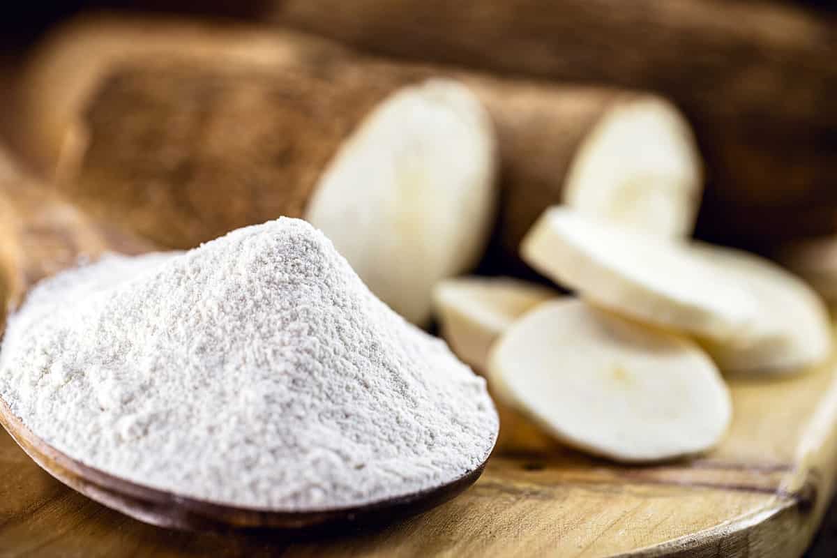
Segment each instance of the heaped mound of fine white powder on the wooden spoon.
M0 397L106 473L288 511L449 483L498 429L485 381L288 218L39 284L8 321Z

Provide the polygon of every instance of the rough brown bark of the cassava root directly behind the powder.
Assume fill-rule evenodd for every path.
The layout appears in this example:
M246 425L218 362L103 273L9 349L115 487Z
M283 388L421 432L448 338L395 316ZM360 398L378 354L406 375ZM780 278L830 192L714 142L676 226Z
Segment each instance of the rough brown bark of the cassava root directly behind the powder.
M293 71L146 60L101 84L62 190L172 248L302 217L326 167L387 90ZM75 133L75 132L72 132ZM75 147L73 149L76 149Z

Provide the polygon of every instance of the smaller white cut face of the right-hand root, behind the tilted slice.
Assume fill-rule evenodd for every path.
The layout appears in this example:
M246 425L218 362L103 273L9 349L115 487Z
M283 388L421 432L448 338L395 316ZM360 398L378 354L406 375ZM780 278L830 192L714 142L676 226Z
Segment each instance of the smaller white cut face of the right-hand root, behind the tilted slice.
M702 190L701 156L680 111L659 97L616 103L582 141L563 200L646 233L686 237Z

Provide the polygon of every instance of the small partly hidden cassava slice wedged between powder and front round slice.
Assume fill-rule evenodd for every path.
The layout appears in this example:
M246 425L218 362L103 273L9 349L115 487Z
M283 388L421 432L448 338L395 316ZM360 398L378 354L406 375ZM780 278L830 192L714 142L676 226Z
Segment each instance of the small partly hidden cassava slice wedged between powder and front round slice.
M460 359L485 371L488 351L503 331L526 311L557 293L518 279L446 279L434 289L442 336Z

